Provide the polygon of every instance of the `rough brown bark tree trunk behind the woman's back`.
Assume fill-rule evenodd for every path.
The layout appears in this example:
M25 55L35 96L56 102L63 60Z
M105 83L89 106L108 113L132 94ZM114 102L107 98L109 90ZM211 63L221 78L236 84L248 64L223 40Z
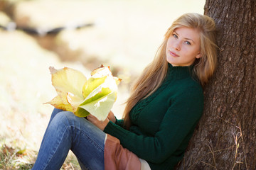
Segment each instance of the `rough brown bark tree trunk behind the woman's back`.
M218 69L177 169L256 169L256 1L206 0L218 30Z

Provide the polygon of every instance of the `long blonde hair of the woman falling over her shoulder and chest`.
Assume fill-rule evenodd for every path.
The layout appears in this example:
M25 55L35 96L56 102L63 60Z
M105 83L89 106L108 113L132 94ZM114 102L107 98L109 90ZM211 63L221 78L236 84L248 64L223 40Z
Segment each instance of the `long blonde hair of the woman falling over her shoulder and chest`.
M125 128L129 129L129 112L135 104L153 94L154 91L161 86L162 81L164 81L168 69L168 62L166 60L167 40L176 28L181 27L194 28L200 33L201 57L195 60L193 69L198 79L201 81L202 86L204 86L213 75L217 62L215 22L212 18L198 13L183 14L177 18L167 30L164 35L164 41L159 47L153 62L144 69L137 81L134 82L131 96L128 98L127 106L124 109Z

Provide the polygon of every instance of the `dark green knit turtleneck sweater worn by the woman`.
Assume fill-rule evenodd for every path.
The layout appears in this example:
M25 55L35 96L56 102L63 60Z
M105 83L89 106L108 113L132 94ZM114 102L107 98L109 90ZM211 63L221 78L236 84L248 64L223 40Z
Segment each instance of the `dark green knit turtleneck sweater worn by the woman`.
M132 108L129 130L117 120L108 123L104 132L117 137L152 170L174 169L203 113L203 90L192 72L192 67L169 64L159 89Z

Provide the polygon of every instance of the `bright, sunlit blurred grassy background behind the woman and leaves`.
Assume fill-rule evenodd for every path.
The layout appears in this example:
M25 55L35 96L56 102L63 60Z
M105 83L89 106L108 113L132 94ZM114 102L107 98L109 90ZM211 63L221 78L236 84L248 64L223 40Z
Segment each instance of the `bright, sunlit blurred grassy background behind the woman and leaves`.
M112 111L122 118L131 81L154 58L183 13L205 0L0 0L0 169L30 169L55 95L48 67L90 75L110 66L119 84ZM70 156L63 169L79 169ZM12 168L10 168L12 167Z

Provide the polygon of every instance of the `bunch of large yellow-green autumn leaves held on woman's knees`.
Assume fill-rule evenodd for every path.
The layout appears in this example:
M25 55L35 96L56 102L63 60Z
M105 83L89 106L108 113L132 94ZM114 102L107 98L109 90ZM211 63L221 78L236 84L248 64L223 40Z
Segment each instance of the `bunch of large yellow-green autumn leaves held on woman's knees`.
M112 76L110 67L102 65L93 70L89 79L68 67L49 69L58 95L47 103L63 111L71 111L78 117L92 114L99 120L107 118L117 100L117 85L121 81Z

